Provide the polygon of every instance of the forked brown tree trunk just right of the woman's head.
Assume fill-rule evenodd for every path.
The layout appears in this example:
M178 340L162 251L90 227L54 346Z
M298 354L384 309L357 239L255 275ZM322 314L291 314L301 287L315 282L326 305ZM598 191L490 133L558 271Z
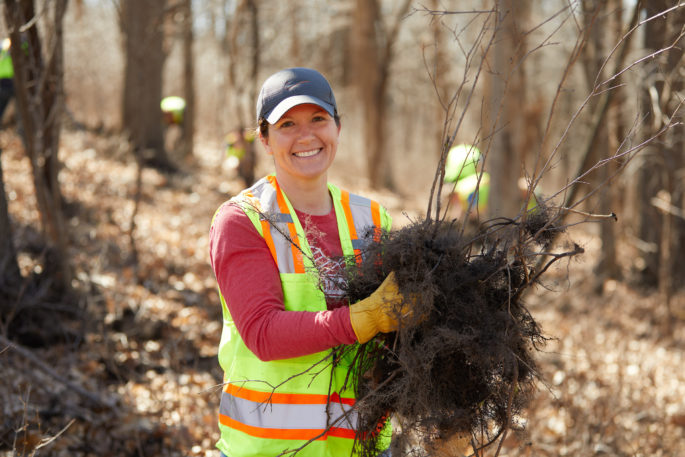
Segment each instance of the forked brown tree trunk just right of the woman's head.
M394 187L385 151L385 99L395 42L410 4L411 0L404 0L397 7L387 29L378 0L357 0L354 12L354 74L363 112L366 172L369 185L375 187Z

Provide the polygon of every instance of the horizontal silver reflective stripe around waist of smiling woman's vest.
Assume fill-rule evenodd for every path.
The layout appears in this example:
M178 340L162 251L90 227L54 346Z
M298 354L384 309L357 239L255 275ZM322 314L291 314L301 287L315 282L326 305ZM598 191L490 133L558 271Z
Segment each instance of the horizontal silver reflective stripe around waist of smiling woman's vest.
M328 424L326 423L326 406L325 404L260 403L223 392L219 411L242 424L266 429L323 431L328 426L333 426L356 430L357 411L353 406L330 402L328 410L331 420ZM346 417L344 417L345 414L347 414Z

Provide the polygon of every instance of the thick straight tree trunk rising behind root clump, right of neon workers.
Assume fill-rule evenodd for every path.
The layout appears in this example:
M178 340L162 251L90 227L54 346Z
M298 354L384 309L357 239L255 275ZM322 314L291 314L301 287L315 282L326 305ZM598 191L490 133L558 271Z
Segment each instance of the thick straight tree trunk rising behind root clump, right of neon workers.
M491 129L495 132L485 168L490 172L490 217L514 216L520 206L517 181L522 172L526 106L525 24L527 0L496 0L497 34L492 75ZM500 130L498 132L498 130Z

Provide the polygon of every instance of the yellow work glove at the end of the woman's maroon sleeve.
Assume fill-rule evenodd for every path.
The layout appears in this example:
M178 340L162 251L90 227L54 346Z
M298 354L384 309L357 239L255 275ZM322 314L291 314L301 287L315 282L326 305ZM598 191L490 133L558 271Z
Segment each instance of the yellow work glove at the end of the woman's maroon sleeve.
M395 281L395 272L391 272L368 298L350 305L350 321L357 341L366 343L378 332L388 333L397 330L397 305L402 301L402 294ZM402 314L406 314L404 311L403 305Z

